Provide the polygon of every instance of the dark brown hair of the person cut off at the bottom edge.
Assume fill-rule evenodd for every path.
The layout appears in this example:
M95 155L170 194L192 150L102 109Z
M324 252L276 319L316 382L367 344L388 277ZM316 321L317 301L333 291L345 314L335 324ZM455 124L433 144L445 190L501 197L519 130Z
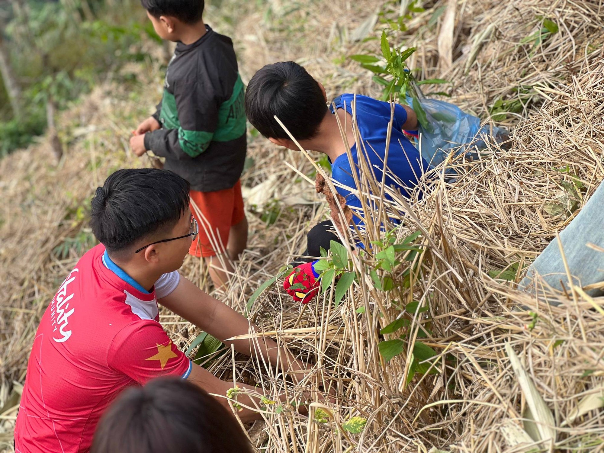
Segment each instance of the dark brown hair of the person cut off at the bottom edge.
M252 453L237 420L181 377L125 390L103 414L91 453Z

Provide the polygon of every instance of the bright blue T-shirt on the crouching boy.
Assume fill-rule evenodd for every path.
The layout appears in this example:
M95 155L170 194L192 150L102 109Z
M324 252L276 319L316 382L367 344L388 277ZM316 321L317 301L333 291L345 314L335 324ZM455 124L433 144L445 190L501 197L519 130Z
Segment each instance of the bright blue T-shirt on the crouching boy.
M336 109L345 109L352 115L352 103L354 100L355 95L342 94L333 100L333 104L335 104ZM381 184L384 173L386 138L388 124L390 123L390 106L390 103L384 101L356 95L356 124L358 125L361 139L365 144L365 149L360 150L360 152L364 153L365 161L368 162L370 168L373 170L378 184ZM333 113L333 105L330 109ZM395 104L388 161L386 162L387 172L384 180L384 184L387 187L400 190L403 196L409 196L408 189L415 187L423 173L428 170L428 163L420 157L416 147L411 144L402 132L402 126L406 120L407 112L403 106ZM356 144L353 144L350 148L350 153L355 162L355 169L358 175L359 150L356 149ZM338 156L332 162L332 178L348 187L356 188L347 154ZM336 187L336 190L346 199L346 204L352 207L353 211L362 215L361 201L355 194L342 187ZM385 196L390 199L388 194L385 194ZM355 207L359 208L359 210L355 210ZM363 220L357 216L353 216L353 222L359 226L364 224Z

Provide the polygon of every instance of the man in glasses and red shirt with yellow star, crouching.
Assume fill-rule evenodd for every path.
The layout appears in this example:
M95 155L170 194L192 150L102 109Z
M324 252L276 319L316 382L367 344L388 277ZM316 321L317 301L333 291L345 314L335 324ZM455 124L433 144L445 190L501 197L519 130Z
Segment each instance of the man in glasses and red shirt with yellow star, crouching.
M117 394L155 376L181 376L219 395L233 387L193 364L159 323L158 301L221 341L254 328L178 274L198 234L188 204L187 181L169 170L118 170L97 188L91 226L101 243L69 272L42 316L14 431L17 453L87 452ZM284 370L304 368L274 341L232 343ZM249 397L238 401L253 406Z

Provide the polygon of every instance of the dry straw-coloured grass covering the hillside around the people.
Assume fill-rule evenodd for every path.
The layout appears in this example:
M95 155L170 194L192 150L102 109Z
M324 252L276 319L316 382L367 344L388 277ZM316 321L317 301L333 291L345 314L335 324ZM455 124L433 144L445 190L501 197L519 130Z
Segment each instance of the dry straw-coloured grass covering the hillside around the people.
M207 367L223 379L259 384L266 396L314 394L309 416L266 405L265 420L246 426L259 451L604 451L604 300L574 288L529 296L514 284L604 179L602 0L215 3L206 21L233 37L244 82L265 63L295 60L328 97L379 96L373 74L347 56L376 52L371 38L383 21L422 3L391 42L417 47L410 68L419 80L447 80L439 85L450 95L444 100L512 131L510 149L493 146L476 161L454 163L456 181L437 168L419 202L422 187L410 201L377 197L377 211L366 213L377 222L368 222L364 239L382 245L349 255L345 267L356 278L339 304L328 290L303 309L282 291L278 272L329 215L313 186L324 170L312 152L249 135L248 250L228 292L215 295L242 312L249 306L259 326L253 335L287 343L313 372L294 385L230 352L202 362L211 359ZM544 18L555 33L542 34ZM149 52L161 50L149 43ZM136 74L134 83L108 74L60 115L59 165L44 140L0 160L0 451L12 451L40 316L94 245L87 225L94 189L116 169L149 165L132 156L127 139L161 95L158 60L123 69ZM364 178L361 191L379 193L373 184ZM403 225L385 238L379 222L392 226L389 217ZM413 247L397 248L387 271L377 265L389 239ZM188 257L182 273L210 289L199 259ZM165 310L161 321L184 350L199 333ZM390 361L385 342L398 348ZM350 428L352 417L365 420L353 419L362 429Z

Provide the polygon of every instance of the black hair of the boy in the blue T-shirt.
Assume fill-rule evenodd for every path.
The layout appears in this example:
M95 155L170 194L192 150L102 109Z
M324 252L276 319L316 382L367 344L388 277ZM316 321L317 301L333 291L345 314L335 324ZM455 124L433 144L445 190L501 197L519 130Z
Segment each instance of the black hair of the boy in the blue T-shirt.
M273 118L277 115L296 140L312 138L327 112L318 82L294 62L264 66L245 91L248 120L265 137L289 138Z

